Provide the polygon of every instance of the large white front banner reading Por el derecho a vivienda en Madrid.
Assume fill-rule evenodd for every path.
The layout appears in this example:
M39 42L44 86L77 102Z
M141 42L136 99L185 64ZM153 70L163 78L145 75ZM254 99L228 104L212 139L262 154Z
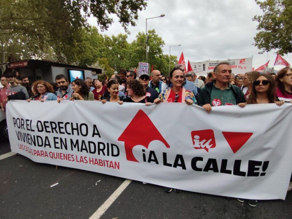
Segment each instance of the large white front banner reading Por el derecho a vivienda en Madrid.
M181 190L285 199L292 171L292 104L11 100L11 151Z

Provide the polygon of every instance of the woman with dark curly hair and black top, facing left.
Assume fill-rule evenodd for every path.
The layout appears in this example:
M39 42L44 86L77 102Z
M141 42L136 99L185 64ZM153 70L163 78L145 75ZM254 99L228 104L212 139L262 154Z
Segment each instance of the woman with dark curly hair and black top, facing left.
M127 92L128 97L125 102L128 103L142 103L146 104L146 106L153 103L153 99L150 96L146 96L146 91L138 80L128 80L127 82Z

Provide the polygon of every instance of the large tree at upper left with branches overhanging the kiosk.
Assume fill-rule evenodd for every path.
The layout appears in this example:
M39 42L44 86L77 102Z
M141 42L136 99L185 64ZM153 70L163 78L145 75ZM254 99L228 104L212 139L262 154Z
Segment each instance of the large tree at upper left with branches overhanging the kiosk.
M86 50L82 31L88 27L90 15L97 19L101 29L107 29L113 22L109 16L115 14L127 30L128 25L136 25L138 11L147 5L146 0L1 0L0 3L3 51L23 53L23 58L30 58L43 57L48 49L53 49L56 57L65 55L68 61L77 61ZM77 45L76 52L73 48Z

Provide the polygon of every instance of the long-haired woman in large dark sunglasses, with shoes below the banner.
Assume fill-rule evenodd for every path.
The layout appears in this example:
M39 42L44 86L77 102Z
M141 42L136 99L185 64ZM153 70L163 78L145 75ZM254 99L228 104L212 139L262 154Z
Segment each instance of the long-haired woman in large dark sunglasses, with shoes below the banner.
M277 101L275 95L276 84L272 76L268 74L259 75L252 83L251 94L247 98L247 104L273 104L282 106L284 101ZM237 199L243 203L245 200L242 198ZM252 207L257 205L257 200L248 200L248 204Z

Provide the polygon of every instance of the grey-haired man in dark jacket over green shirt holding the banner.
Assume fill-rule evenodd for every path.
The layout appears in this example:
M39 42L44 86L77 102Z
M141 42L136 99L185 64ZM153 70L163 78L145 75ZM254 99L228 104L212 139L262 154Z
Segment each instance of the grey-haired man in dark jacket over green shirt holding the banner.
M238 86L229 83L231 77L231 67L229 62L220 62L214 68L214 81L206 84L197 98L198 105L207 112L211 107L239 105L243 108L246 105L243 92Z

